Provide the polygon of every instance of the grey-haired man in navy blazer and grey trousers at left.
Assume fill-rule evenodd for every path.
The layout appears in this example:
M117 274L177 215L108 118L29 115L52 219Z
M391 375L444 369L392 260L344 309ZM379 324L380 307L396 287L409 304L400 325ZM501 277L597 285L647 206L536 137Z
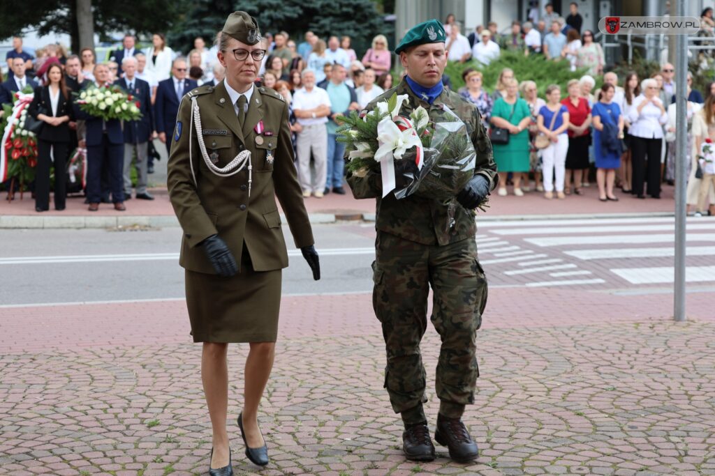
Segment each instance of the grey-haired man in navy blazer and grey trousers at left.
M132 198L132 156L137 151L137 198L154 200L147 192L147 150L152 136L152 91L149 83L137 78L137 59L127 56L122 60L124 78L114 84L131 94L134 102L139 103L142 118L138 121L124 121L124 199Z

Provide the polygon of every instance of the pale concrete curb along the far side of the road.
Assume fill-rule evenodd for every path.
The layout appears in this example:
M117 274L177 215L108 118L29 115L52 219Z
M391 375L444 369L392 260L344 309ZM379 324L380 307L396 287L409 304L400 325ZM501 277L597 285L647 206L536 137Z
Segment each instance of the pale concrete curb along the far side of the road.
M501 216L477 216L479 222L494 221L533 221L533 220L583 220L590 218L658 218L672 217L672 212L651 212L651 213L594 213L583 215L583 213L570 213L563 215L501 215ZM366 223L375 222L375 213L360 213L346 211L345 213L309 213L310 223L313 225L337 223L340 221L363 221ZM285 215L280 214L281 222L287 223ZM151 228L172 228L178 227L179 221L173 215L156 216L27 216L9 215L0 216L1 228L129 228L132 226L146 226Z

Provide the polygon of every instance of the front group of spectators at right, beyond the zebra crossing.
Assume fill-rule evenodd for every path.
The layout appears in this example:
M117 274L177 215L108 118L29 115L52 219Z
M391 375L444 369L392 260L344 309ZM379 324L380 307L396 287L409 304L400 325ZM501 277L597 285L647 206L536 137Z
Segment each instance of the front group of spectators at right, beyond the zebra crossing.
M501 71L491 93L479 71L466 69L460 93L475 104L490 129L501 177L499 196L508 195L510 183L516 196L531 190L547 199L554 192L560 199L582 195L595 168L601 201L618 201L615 188L636 198L661 198L661 184L675 179L674 74L671 64L649 78L631 72L621 87L611 71L597 91L595 79L586 75L569 81L566 91L548 85L546 97L539 98L536 83L518 83L511 69ZM687 77L687 203L689 211L701 216L715 208L709 177L696 173L704 170L699 167L701 144L715 140L715 83L703 98L691 88L691 75Z

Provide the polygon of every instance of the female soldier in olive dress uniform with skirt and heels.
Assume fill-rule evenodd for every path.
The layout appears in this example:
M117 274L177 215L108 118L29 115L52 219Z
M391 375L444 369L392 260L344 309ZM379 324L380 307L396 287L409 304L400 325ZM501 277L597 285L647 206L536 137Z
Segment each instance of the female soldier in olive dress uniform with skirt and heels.
M169 158L169 197L184 236L179 263L213 428L211 475L232 475L226 432L228 343L250 343L238 425L246 455L267 465L258 405L275 355L281 270L288 265L278 197L295 244L320 279L290 143L288 105L254 86L265 50L251 16L224 25L218 59L226 78L184 96Z

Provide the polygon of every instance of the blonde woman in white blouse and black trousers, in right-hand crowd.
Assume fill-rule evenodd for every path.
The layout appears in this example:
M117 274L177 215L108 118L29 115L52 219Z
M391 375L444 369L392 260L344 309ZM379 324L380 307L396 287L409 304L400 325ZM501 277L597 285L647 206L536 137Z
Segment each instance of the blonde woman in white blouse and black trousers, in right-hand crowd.
M641 82L641 91L640 96L633 99L633 104L628 108L633 151L631 193L638 198L646 198L643 190L646 181L647 193L653 198L661 198L661 147L663 125L668 121L668 113L663 101L658 97L656 80L644 79Z

